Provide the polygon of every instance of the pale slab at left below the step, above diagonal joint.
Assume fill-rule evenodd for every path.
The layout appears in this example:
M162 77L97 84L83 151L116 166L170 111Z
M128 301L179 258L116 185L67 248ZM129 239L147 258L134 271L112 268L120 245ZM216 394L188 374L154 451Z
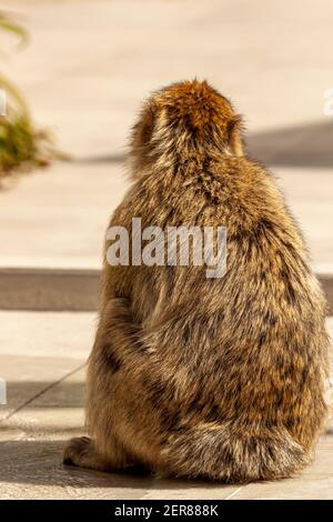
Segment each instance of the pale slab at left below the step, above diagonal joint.
M0 405L0 420L82 367L91 350L94 319L94 313L84 312L0 311L0 377L8 401ZM74 389L68 389L71 401Z

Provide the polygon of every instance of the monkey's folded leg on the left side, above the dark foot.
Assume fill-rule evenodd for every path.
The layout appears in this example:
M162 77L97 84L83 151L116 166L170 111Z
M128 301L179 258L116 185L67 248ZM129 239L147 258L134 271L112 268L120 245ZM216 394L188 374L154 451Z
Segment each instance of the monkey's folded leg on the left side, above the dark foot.
M145 382L148 375L154 381L153 369L160 379L155 359L142 327L134 322L130 301L110 300L101 311L89 360L87 425L99 452L109 453L110 434L114 435L132 465L150 470L158 468L165 435Z

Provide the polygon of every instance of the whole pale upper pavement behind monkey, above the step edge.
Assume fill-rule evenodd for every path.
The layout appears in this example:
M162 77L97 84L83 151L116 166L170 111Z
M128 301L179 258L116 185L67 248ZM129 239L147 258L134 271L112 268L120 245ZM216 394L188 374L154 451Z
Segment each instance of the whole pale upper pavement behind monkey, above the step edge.
M0 267L100 268L141 100L196 76L245 114L250 153L276 172L314 263L332 270L331 0L2 3L31 40L1 67L74 161L0 192Z

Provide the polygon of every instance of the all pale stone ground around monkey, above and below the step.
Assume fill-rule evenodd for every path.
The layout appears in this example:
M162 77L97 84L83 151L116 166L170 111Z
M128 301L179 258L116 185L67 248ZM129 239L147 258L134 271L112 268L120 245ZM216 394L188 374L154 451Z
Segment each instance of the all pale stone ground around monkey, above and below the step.
M323 116L333 88L331 0L4 0L1 9L31 32L26 50L0 57L1 70L72 161L2 188L0 268L99 268L141 100L196 76L245 114L249 150L276 172L317 270L332 271L333 118ZM82 433L94 324L90 312L0 311L0 499L333 498L332 424L313 465L276 483L63 468L63 442Z

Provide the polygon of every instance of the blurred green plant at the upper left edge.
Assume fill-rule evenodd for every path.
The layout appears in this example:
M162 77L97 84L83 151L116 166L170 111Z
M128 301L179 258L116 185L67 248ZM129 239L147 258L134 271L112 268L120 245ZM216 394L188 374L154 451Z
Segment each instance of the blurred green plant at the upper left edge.
M26 29L0 12L0 31L19 37L26 42ZM0 116L0 179L33 167L44 167L57 155L49 132L36 129L28 104L20 90L0 73L0 89L7 94L7 110Z

